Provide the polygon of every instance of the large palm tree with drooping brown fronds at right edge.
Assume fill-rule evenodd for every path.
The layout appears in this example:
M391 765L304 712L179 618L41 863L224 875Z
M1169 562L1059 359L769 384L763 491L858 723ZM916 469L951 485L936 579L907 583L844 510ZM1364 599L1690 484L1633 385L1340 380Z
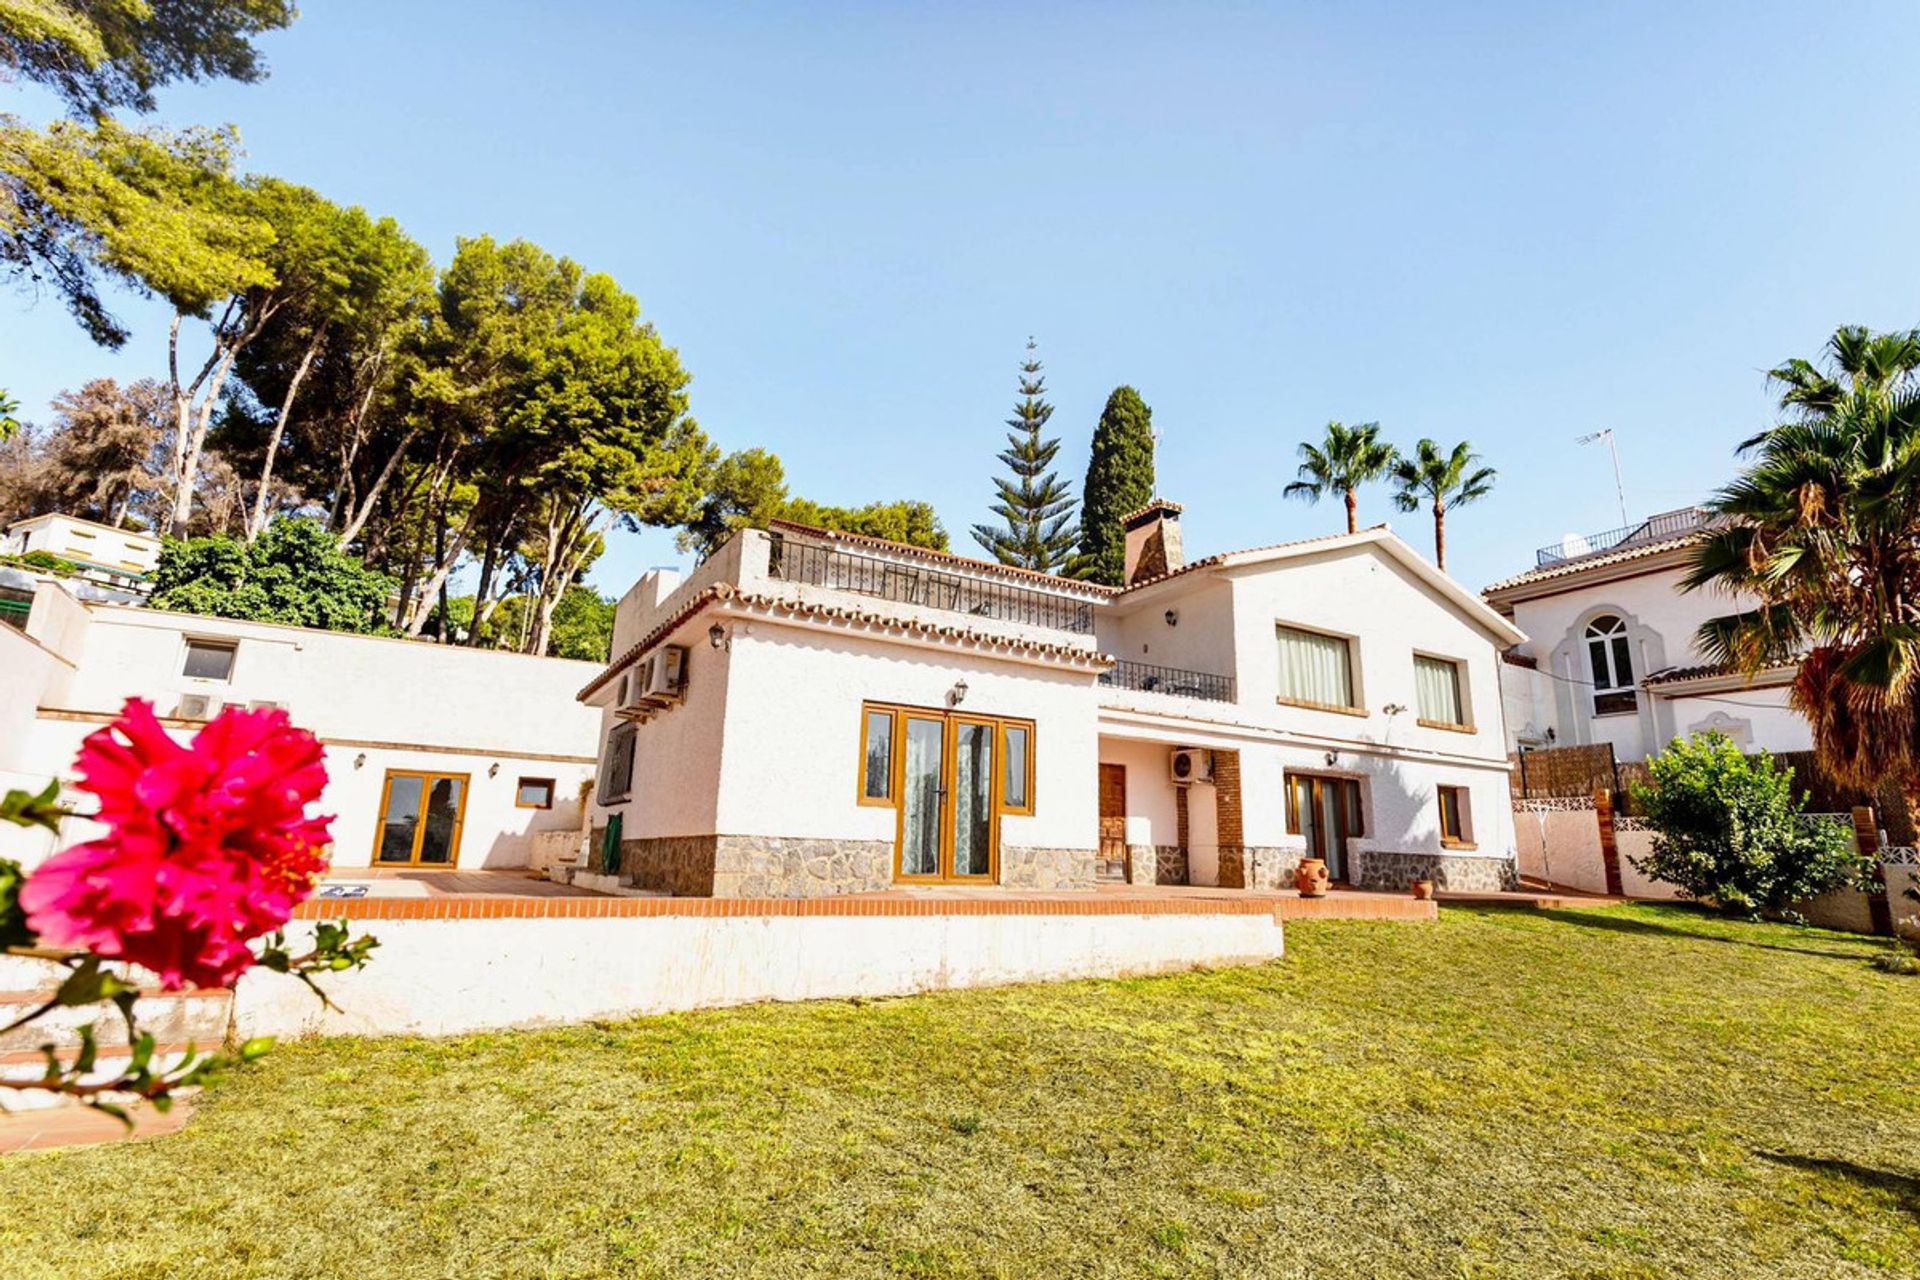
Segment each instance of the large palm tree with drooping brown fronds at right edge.
M1772 372L1782 422L1747 470L1686 587L1738 593L1699 645L1745 672L1799 662L1791 700L1839 783L1920 793L1920 332L1843 328L1824 368Z

